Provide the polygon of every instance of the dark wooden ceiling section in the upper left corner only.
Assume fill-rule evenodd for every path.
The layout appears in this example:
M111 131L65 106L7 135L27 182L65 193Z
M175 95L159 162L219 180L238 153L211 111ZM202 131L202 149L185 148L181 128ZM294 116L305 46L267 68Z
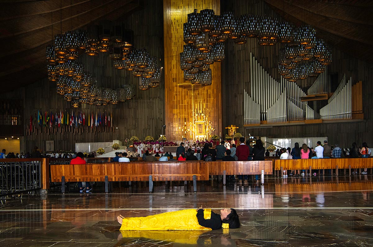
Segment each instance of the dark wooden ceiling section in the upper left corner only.
M115 21L140 0L12 0L0 8L0 82L15 90L47 76L46 46L55 34L100 19Z

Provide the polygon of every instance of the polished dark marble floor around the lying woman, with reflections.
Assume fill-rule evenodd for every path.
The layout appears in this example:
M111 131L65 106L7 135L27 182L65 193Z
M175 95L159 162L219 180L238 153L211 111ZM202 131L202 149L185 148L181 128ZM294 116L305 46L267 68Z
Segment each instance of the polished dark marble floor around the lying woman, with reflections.
M114 183L103 193L66 194L59 188L3 198L0 246L373 246L373 176L269 178L264 186L210 180ZM119 232L116 216L147 216L204 206L234 207L241 228L214 231Z

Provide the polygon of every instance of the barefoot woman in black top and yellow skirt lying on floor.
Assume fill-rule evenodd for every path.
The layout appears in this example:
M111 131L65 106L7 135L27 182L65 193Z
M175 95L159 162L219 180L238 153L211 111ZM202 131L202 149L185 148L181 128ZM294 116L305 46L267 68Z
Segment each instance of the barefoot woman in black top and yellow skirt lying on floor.
M220 215L211 209L185 209L160 213L146 217L117 217L120 231L126 230L216 230L223 228L239 228L239 218L235 209L222 209ZM223 225L222 225L223 223Z

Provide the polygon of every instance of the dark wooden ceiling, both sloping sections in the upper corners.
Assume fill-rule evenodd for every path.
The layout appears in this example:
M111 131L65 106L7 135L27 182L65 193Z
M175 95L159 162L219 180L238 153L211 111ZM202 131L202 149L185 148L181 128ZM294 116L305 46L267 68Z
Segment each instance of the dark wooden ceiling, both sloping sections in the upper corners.
M313 26L327 44L373 62L373 3L369 0L264 0L296 25ZM45 49L54 34L100 19L120 19L141 0L3 0L0 82L11 91L47 76Z

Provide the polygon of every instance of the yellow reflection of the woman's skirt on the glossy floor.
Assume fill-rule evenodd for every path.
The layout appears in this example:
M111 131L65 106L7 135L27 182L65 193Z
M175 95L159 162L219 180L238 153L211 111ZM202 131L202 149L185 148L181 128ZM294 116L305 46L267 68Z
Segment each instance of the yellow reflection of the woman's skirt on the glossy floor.
M197 244L198 237L206 231L121 231L123 238L149 238L180 244Z

